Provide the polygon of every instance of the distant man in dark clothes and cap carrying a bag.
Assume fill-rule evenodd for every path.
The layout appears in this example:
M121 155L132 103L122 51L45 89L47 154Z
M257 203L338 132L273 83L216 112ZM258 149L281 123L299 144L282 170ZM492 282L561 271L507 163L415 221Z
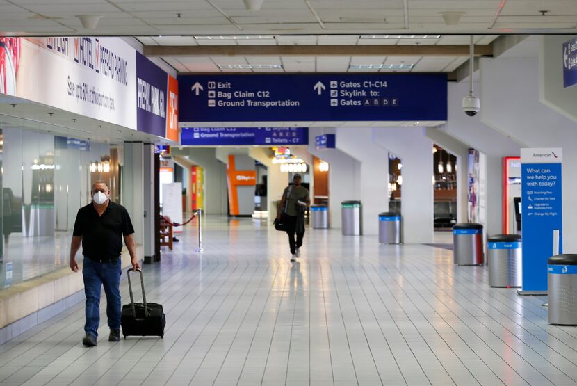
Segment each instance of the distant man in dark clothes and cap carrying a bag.
M309 191L300 184L302 177L295 174L293 185L287 186L282 193L282 199L277 210L277 220L285 214L286 233L289 234L289 246L291 246L291 262L300 257L300 247L304 237L304 209L310 204ZM296 234L296 240L295 240Z

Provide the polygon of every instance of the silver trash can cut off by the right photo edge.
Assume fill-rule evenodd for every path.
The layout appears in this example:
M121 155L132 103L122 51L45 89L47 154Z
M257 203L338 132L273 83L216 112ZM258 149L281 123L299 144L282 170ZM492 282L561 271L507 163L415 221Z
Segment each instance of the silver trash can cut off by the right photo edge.
M577 325L577 255L557 255L547 262L548 321Z

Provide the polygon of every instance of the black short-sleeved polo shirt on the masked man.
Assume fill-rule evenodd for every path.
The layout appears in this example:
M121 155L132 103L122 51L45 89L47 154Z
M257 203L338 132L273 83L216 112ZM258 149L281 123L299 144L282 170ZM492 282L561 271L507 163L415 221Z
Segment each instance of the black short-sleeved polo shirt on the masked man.
M92 259L113 259L122 252L122 235L134 233L126 208L108 201L108 207L98 216L92 202L76 214L74 236L82 236L82 255Z

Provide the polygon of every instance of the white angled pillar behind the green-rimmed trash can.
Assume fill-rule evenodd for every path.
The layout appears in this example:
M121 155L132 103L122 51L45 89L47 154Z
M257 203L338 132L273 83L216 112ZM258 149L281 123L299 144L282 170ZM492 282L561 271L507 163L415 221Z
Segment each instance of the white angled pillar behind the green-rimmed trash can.
M361 166L359 161L341 150L315 149L315 136L334 134L334 132L334 128L311 127L309 129L309 153L329 163L329 225L339 229L341 228L341 202L361 199Z

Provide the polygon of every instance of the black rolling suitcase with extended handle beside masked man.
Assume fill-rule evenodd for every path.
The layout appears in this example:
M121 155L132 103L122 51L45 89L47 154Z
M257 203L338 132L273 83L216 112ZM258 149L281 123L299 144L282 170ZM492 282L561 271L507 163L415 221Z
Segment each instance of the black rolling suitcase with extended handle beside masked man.
M157 303L146 303L143 271L140 269L137 271L140 273L140 286L143 289L143 303L134 303L132 284L130 282L130 271L132 271L132 268L127 271L130 304L123 305L122 312L120 313L120 324L122 324L122 335L124 335L124 339L129 335L164 337L166 318L164 316L162 305Z

